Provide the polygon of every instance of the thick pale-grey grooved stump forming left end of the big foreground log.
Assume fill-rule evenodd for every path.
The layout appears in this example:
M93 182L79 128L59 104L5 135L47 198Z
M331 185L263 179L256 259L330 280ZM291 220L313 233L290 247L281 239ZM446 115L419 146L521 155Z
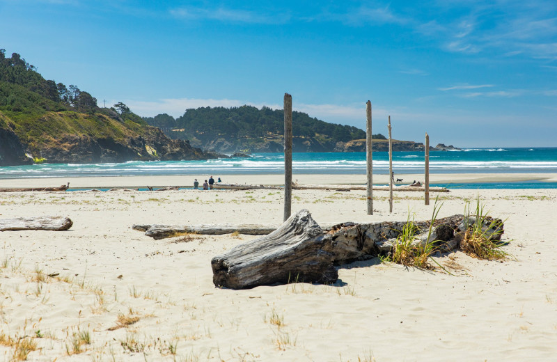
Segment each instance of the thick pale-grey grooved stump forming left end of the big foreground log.
M233 289L288 281L333 283L338 273L334 255L324 250L327 242L308 210L301 210L269 235L212 258L213 283Z

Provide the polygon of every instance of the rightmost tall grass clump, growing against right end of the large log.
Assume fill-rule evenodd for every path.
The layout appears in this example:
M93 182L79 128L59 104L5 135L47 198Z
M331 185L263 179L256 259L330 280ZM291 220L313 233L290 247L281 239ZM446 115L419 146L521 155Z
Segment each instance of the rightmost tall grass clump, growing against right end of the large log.
M466 204L464 215L471 224L460 241L460 249L464 253L483 260L505 260L512 255L503 251L503 243L499 240L503 233L503 221L492 219L480 204L480 197L476 199L476 210L470 212L470 204Z

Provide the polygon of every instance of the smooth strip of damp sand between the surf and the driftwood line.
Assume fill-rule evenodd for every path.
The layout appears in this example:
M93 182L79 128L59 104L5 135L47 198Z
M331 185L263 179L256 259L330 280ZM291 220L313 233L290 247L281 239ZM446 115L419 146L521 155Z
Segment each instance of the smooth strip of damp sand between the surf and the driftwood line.
M214 178L219 175L214 173ZM282 185L282 174L261 175L222 175L224 183ZM0 188L15 187L58 187L70 182L70 188L97 187L166 187L193 185L194 179L200 184L208 180L209 175L143 175L143 176L86 176L54 178L17 178L0 179ZM396 174L395 179L404 180L400 184L409 184L413 180L424 180L423 173ZM292 180L299 184L366 184L366 174L294 174ZM488 182L557 182L557 173L430 173L430 184L474 184ZM373 184L389 184L389 175L373 175Z

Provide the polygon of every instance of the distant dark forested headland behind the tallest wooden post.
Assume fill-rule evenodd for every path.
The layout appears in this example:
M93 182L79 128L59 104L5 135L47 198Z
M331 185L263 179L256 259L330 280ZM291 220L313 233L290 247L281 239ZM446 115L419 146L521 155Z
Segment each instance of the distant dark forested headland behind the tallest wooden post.
M188 139L192 145L216 152L282 152L284 113L281 109L252 106L201 107L187 109L173 118L168 114L144 117L173 139ZM357 127L327 123L307 113L292 112L294 152L329 152L338 142L365 139ZM373 139L385 140L382 134Z

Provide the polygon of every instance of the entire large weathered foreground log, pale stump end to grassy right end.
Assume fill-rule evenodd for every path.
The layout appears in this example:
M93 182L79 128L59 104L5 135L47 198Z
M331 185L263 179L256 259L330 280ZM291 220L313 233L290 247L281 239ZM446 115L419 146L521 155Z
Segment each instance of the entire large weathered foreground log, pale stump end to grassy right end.
M486 218L484 228L493 239L500 239L503 222L497 220L499 228L489 230L491 221ZM474 220L463 215L437 219L429 238L431 222L413 222L418 228L414 242L434 242L443 252L458 247L460 237ZM333 283L337 278L334 265L388 254L406 223L340 223L322 230L308 210L301 210L273 233L214 257L213 283L233 289L288 281Z

